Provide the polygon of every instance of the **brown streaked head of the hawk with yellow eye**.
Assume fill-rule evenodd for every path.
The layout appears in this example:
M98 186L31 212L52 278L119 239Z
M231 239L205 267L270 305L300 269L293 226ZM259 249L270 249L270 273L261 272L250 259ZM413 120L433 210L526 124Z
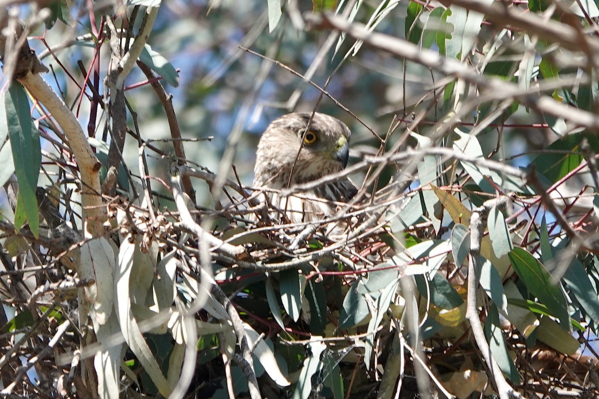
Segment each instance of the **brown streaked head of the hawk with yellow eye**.
M316 112L311 122L310 116L287 114L268 126L256 153L255 185L283 188L289 182L313 181L346 167L349 128L329 115Z

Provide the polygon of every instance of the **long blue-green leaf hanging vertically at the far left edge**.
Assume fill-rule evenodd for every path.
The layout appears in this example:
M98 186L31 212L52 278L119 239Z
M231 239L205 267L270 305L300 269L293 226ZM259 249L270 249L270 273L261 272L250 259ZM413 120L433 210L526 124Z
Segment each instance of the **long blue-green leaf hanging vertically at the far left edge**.
M40 217L35 197L41 166L40 135L31 121L29 99L19 83L13 83L5 97L8 136L13 150L14 169L19 182L17 207L23 210L29 229L38 236ZM21 224L17 224L20 227Z

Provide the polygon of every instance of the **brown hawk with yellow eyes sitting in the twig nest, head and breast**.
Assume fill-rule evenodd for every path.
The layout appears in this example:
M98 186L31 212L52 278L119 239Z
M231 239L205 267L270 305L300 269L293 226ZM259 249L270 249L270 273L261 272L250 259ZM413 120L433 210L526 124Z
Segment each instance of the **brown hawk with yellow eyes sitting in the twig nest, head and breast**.
M311 115L301 112L283 115L267 127L256 152L253 185L282 190L340 172L346 167L349 128L337 118L319 112L310 121ZM356 192L353 183L343 177L297 197L272 192L267 195L273 206L297 223L333 214L335 205L332 201L348 202Z

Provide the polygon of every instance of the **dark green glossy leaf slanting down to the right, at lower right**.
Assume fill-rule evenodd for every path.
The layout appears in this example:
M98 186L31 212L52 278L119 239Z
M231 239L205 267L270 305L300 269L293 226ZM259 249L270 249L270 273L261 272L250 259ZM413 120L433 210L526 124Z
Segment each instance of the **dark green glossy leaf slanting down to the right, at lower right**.
M571 331L570 313L561 287L555 285L547 269L526 249L516 246L509 254L512 266L528 290L559 319L559 324Z

